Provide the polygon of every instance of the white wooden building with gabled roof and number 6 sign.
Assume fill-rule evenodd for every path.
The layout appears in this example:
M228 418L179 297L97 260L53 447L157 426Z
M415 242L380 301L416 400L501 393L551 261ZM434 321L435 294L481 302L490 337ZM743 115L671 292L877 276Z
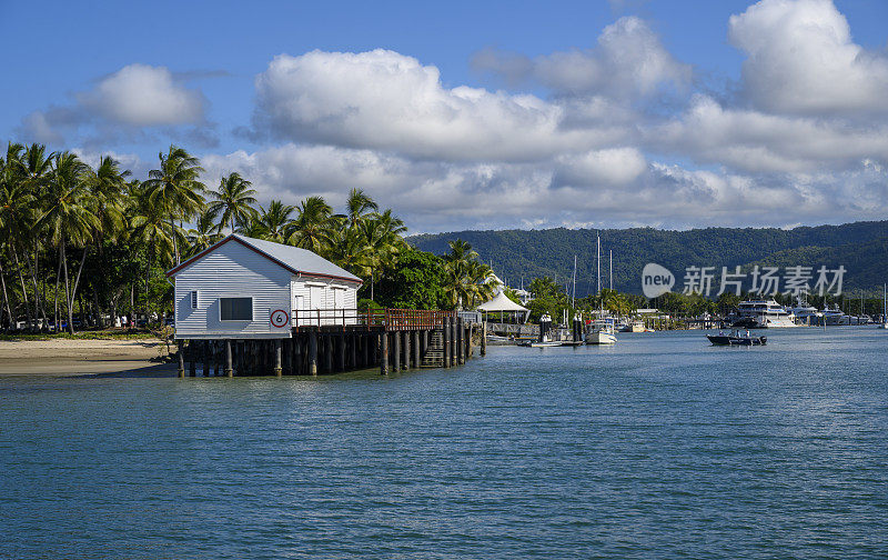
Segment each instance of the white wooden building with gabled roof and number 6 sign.
M296 247L231 234L167 272L176 339L274 339L352 324L361 279Z

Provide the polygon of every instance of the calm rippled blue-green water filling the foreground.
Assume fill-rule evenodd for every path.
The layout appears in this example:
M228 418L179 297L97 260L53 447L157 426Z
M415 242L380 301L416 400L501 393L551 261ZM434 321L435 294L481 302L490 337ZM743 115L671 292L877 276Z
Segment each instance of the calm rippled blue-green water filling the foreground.
M0 558L886 558L888 332L0 379Z

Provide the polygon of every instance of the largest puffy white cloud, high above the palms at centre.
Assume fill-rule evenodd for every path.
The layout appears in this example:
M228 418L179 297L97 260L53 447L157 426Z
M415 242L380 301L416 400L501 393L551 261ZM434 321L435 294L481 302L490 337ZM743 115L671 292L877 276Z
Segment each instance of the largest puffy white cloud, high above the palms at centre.
M534 160L609 141L562 127L535 96L442 86L438 70L387 50L275 57L256 78L254 124L274 137L445 160Z

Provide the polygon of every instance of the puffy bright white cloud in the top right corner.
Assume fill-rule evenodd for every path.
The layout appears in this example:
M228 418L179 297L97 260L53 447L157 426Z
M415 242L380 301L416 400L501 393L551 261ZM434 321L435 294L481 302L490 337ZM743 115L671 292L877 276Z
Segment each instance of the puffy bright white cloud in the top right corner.
M729 20L744 91L770 111L888 113L888 58L851 40L831 0L761 0Z

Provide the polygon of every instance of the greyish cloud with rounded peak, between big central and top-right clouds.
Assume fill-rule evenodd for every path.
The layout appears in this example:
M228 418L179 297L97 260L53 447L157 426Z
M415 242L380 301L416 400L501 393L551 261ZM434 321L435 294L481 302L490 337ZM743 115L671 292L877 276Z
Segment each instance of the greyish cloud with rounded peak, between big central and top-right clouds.
M642 19L624 17L607 26L587 50L554 52L529 59L487 49L473 64L517 84L533 79L559 93L647 96L663 87L684 89L690 67L678 62Z

